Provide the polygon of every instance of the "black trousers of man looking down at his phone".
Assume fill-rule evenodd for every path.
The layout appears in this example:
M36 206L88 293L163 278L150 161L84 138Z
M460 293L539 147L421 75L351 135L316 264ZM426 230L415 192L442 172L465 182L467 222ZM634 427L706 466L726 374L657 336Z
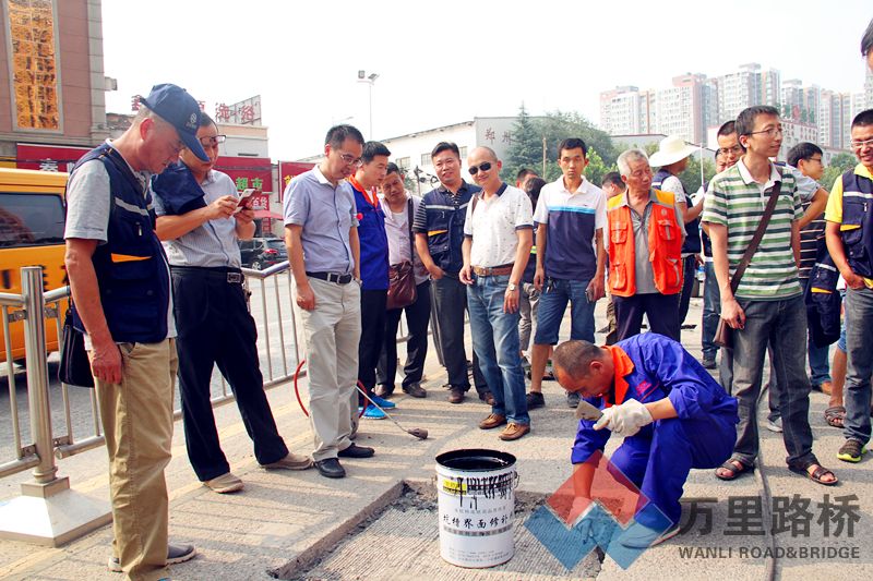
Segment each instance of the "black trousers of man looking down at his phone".
M230 471L210 402L210 380L216 364L237 397L258 462L268 464L285 458L288 448L264 394L255 346L258 331L246 306L242 285L227 282L226 271L174 268L172 300L186 446L198 479L207 481Z

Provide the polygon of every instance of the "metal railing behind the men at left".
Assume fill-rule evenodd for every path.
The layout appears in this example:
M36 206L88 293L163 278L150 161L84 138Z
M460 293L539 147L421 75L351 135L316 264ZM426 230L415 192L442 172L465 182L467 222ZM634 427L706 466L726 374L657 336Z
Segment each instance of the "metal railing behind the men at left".
M243 268L246 275L244 289L249 298L249 311L258 328L258 352L264 376L264 388L268 389L294 378L294 373L301 358L300 342L298 340L297 319L292 301L292 277L288 262L278 263L265 270ZM36 282L25 282L31 278ZM38 282L38 283L37 283ZM34 286L35 285L35 286ZM52 429L52 409L49 390L47 367L46 339L39 335L35 327L38 317L31 317L28 313L41 312L46 319L53 319L58 334L58 346L61 344L62 332L62 304L70 296L69 287L62 287L48 292L43 292L41 269L39 267L22 268L22 294L0 293L0 308L2 310L3 339L5 344L5 375L9 386L10 426L14 458L0 463L0 479L37 468L41 477L43 473L57 471L55 460L68 458L103 446L105 438L100 424L97 396L94 389L72 387L75 398L71 397L71 386L60 384L60 404L56 407L55 419L59 426ZM254 300L252 300L254 299ZM21 320L25 327L25 353L27 356L27 412L29 417L29 439L32 444L24 444L23 411L20 409L15 389L15 372L12 361L12 338L10 323ZM41 328L46 326L43 324ZM44 334L44 331L41 331ZM397 342L408 340L405 320L400 320L400 337ZM290 344L289 344L290 342ZM291 355L294 359L291 359ZM32 362L33 359L33 362ZM301 375L306 370L301 371ZM213 407L218 407L235 400L234 394L215 370L219 386L212 397ZM215 394L217 391L217 394ZM57 396L55 397L57 400ZM87 429L81 438L76 438L72 408L85 407L83 399L87 399ZM75 400L75 401L73 401ZM59 409L57 409L59 408ZM82 411L82 410L79 410ZM181 416L181 410L175 410L175 419ZM80 422L81 429L81 422ZM40 447L40 438L45 443ZM2 458L0 458L2 460Z

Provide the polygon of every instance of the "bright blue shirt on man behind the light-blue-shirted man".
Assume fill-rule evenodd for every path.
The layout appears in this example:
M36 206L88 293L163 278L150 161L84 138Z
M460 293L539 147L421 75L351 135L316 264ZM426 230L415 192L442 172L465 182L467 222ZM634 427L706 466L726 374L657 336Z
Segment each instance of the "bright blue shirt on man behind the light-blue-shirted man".
M376 199L371 204L356 182L349 181L355 192L358 209L358 240L361 246L361 288L363 290L388 289L388 238L385 233L385 214Z

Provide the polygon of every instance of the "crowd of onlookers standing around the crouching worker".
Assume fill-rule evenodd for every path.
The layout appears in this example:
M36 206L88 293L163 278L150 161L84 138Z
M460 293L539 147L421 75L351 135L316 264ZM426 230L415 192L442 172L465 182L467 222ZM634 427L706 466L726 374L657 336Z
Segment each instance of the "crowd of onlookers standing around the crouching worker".
M873 69L873 23L861 51ZM490 406L479 427L505 426L504 441L529 433L528 410L545 404L542 378L567 303L571 339L590 342L595 304L608 295L608 343L624 344L627 353L639 343L637 351L669 365L718 366L721 388L711 384L707 392L715 387L719 401L729 402L723 388L739 401L733 453L717 470L719 479L754 468L766 359L766 425L784 433L789 468L820 484L837 482L812 451L811 389L829 394L825 417L845 429L837 458L858 462L866 451L873 110L851 123L859 164L835 183L820 184L822 149L802 143L787 164L773 162L782 143L778 111L745 109L719 129L718 173L693 195L679 179L692 153L681 140L665 138L650 158L636 148L623 152L619 171L596 185L585 178L585 142L569 137L559 146L557 180L528 170L514 184L501 179L502 161L488 147L469 153L466 173L474 183L466 181L458 147L440 143L431 156L440 184L419 199L405 191L383 144L364 143L349 125L332 128L322 161L284 193L307 348L310 458L287 449L263 391L237 245L253 235L254 213L213 167L225 136L176 85L155 86L141 105L119 138L79 160L67 190L72 315L85 336L110 462L111 570L162 579L167 565L195 555L190 545L169 545L167 536L164 468L177 376L188 456L205 486L216 493L243 487L222 451L210 404L214 365L236 395L259 464L314 464L326 477L342 477L340 458L374 455L355 443L359 419L382 417L380 408L394 406L403 313L408 340L400 389L427 396L421 383L430 326L449 401L465 399L471 366L477 395ZM666 341L681 340L699 262L702 365L663 353L679 349ZM648 336L643 349L636 337L644 325L670 339ZM598 353L593 365L609 363ZM626 358L615 361L633 366ZM574 391L566 399L575 407ZM630 403L603 412L617 422L611 431L635 434L655 415L667 417Z

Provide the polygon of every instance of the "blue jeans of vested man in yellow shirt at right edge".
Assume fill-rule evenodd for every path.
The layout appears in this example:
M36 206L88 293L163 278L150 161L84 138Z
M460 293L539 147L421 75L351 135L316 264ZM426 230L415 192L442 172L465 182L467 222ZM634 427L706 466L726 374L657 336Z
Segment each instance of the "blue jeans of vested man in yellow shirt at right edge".
M847 439L870 440L870 374L873 373L873 290L846 291L846 406Z

